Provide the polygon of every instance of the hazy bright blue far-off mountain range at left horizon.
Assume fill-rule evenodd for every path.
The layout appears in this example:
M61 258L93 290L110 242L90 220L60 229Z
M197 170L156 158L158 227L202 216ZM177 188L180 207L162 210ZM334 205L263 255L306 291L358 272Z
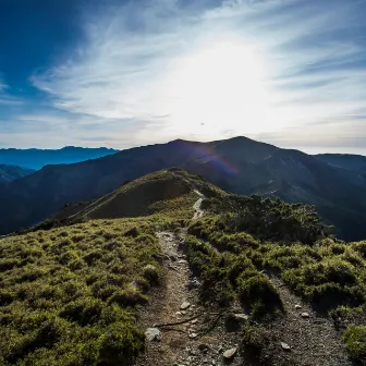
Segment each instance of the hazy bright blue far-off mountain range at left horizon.
M119 150L106 147L86 148L66 146L56 150L8 148L0 149L0 164L40 169L49 164L74 163L97 159L115 152L119 152Z

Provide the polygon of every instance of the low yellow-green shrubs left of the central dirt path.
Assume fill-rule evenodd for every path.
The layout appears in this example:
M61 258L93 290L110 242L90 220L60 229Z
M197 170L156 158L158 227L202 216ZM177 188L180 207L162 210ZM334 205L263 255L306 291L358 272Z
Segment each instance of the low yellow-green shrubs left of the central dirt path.
M159 283L157 219L90 221L0 241L0 364L125 364ZM160 222L161 223L161 222Z

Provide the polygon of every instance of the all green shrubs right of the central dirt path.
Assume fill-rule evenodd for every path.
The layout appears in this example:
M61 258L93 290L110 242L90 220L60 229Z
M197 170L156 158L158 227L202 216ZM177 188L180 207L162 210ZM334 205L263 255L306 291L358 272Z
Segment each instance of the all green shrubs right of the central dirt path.
M347 317L346 350L365 364L366 332L357 326L366 319L366 242L338 241L304 205L230 196L207 199L205 208L211 215L191 224L187 241L203 296L217 296L223 306L236 297L252 319L268 319L282 304L261 271L276 274L317 312ZM244 342L254 344L264 332L248 329Z

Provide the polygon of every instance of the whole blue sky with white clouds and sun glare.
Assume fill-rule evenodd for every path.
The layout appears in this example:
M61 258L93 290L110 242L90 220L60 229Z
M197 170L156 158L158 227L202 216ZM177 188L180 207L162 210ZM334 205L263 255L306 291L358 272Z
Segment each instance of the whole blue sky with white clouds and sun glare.
M366 155L365 0L0 0L0 148L247 136Z

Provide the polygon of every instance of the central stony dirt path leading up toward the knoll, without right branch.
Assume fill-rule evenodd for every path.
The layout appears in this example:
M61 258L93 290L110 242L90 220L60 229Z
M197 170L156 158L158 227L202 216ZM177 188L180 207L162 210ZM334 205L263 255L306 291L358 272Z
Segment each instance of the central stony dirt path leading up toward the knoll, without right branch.
M199 199L195 203L197 219L204 215L200 204L205 196L198 191ZM160 327L160 341L146 341L146 351L136 366L172 365L224 365L223 352L237 346L239 333L229 333L224 328L224 317L213 309L203 307L198 302L199 282L193 278L184 254L186 229L174 235L159 232L164 283L149 296L149 306L141 314L139 321L144 329L156 325L171 324L194 318L182 325ZM183 303L190 306L182 310ZM187 304L186 304L187 305ZM239 309L240 312L240 309ZM231 365L243 364L240 354L235 354Z

